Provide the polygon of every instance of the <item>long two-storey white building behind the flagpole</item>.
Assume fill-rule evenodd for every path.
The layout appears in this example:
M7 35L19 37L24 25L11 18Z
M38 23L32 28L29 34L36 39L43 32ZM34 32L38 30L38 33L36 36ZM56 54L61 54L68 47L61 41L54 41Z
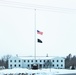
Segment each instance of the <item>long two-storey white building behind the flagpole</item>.
M65 68L63 57L11 57L8 60L8 68L32 68L37 64L38 68Z

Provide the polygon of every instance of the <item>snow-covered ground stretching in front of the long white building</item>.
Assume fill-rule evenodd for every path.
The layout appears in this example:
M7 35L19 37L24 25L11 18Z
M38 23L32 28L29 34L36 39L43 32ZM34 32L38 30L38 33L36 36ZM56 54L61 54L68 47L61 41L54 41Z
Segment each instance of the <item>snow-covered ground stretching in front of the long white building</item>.
M0 70L0 75L4 74L13 74L18 75L24 73L25 75L59 75L59 74L75 74L76 70L67 70L67 69L23 69L23 68L14 68L14 69L4 69Z

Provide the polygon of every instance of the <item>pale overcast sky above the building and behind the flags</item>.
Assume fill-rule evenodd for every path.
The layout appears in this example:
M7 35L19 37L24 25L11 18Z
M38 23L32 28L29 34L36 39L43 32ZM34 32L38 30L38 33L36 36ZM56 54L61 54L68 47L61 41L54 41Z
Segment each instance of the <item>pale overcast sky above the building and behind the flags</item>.
M0 0L0 56L76 55L76 0Z

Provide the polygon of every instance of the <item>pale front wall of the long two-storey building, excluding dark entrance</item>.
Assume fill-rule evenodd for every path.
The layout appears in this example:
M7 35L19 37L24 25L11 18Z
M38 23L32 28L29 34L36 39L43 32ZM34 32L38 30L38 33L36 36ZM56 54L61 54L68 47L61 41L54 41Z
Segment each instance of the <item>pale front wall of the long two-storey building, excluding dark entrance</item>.
M37 59L36 63L37 64L44 64L44 60L45 61L50 60L52 62L52 65L54 65L54 66L52 66L52 68L65 68L65 59L62 57L54 57L52 59L51 58L49 59L49 57L44 57L44 58L45 59L42 59L42 58ZM12 60L12 62L10 62L11 60ZM15 62L15 60L16 60L16 62ZM19 62L19 60L20 60L20 62ZM29 62L28 62L28 60L29 60ZM32 60L33 60L33 62L32 62ZM41 62L40 62L40 60L41 60ZM54 60L54 62L53 62L53 60ZM57 60L58 60L58 62L57 62ZM19 57L11 57L8 61L8 68L19 68L19 67L20 68L31 68L31 64L34 64L34 63L35 63L35 60L29 59L28 57L27 58L25 57L25 59L21 59ZM12 67L10 65L12 65ZM29 65L29 67L28 67L28 65ZM42 68L43 68L43 65L42 65Z

